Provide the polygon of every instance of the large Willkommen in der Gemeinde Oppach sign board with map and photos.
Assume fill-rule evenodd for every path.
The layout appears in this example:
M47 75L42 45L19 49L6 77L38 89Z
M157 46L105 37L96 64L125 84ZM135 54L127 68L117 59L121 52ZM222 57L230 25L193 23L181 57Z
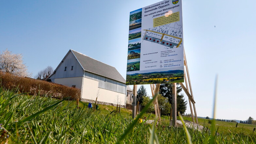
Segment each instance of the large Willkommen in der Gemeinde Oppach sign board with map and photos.
M130 12L126 85L184 82L182 1Z

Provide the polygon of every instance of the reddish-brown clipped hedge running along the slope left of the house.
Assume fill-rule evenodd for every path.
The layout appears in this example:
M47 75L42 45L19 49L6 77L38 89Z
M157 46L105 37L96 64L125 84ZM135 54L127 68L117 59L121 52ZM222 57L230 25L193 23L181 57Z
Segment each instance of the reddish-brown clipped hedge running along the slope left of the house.
M71 97L79 99L81 92L77 88L71 88L55 83L37 80L28 77L15 76L10 73L0 72L0 86L7 89L16 89L30 95L48 95L58 99Z

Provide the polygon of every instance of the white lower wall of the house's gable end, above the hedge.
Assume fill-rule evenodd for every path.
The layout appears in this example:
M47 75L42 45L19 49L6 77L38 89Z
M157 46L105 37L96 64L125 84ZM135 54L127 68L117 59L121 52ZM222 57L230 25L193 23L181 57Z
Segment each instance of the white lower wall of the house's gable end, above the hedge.
M82 89L83 77L55 78L54 82L68 87L75 85L75 88Z

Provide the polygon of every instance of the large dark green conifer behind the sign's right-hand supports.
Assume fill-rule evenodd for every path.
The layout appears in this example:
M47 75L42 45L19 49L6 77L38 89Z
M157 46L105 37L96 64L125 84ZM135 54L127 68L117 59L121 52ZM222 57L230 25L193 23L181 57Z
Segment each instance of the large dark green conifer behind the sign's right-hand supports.
M187 101L184 99L183 94L179 94L182 91L181 86L177 83L177 114L180 112L184 114L187 109ZM168 98L170 104L172 104L172 84L161 84L159 88L159 93Z

